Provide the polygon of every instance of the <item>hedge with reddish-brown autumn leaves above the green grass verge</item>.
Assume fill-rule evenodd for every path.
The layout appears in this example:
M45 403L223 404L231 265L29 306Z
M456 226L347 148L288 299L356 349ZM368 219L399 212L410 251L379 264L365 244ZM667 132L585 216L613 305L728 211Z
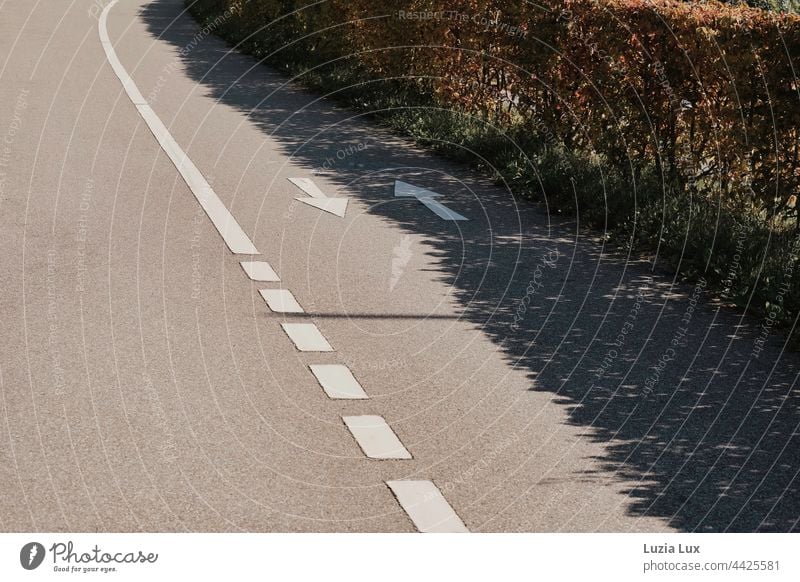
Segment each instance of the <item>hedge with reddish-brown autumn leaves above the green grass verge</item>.
M800 18L671 0L201 0L265 51L406 79L446 107L796 214ZM211 6L209 6L211 5ZM303 55L305 55L303 57Z

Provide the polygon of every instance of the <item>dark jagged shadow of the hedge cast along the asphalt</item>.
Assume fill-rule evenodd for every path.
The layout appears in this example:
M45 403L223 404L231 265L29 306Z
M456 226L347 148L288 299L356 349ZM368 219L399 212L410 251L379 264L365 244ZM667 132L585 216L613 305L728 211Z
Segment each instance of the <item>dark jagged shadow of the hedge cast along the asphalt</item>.
M155 0L141 18L155 38L178 49L191 43L181 57L190 78L247 114L295 163L318 169L348 144L370 144L337 160L326 178L370 213L426 238L462 317L529 373L531 390L553 393L569 422L604 444L597 460L626 484L631 514L666 518L682 531L800 529L800 357L770 337L754 358L760 321L376 131L217 38L197 42L198 25L180 0ZM395 178L445 192L459 212L481 219L455 228L389 204ZM537 278L553 253L557 265Z

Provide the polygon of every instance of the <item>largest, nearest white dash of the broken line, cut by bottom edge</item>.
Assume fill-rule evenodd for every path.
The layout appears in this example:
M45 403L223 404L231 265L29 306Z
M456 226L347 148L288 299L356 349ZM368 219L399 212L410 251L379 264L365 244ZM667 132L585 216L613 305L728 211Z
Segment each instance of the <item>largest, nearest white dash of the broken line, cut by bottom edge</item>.
M469 532L431 481L387 481L386 484L422 533Z

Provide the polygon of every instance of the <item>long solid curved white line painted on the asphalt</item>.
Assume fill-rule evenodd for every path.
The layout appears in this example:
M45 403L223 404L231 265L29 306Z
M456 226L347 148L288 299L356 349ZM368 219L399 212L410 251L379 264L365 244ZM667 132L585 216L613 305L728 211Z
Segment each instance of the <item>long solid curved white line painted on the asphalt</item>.
M116 73L117 77L119 77L119 80L122 82L125 93L128 94L133 105L139 111L139 115L141 115L147 127L150 128L150 131L153 133L156 140L158 140L161 149L164 150L167 156L169 156L169 159L172 160L172 163L175 164L175 168L177 168L184 182L189 186L192 194L197 198L200 206L203 207L203 210L205 210L208 218L211 219L211 222L214 224L231 252L243 255L259 254L258 249L256 249L250 238L245 234L244 230L242 230L242 227L239 226L239 223L233 218L233 215L231 215L219 199L219 196L214 192L214 189L200 170L197 169L197 166L194 165L192 160L189 159L189 156L186 155L186 152L181 149L181 146L179 146L175 138L172 137L167 127L161 122L161 119L159 119L158 115L155 114L139 92L136 83L133 82L133 79L125 70L125 67L122 66L114 50L114 46L111 44L107 27L108 12L117 1L118 0L112 0L103 9L97 28L100 33L100 42L103 45L103 50L106 52L106 58L111 68L114 69L114 73Z

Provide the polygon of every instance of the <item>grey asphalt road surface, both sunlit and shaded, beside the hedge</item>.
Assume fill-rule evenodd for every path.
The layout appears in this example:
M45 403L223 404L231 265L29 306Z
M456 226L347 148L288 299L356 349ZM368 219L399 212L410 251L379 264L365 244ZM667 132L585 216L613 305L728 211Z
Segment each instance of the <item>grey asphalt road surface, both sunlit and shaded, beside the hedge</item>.
M0 529L798 529L764 321L102 4L0 0Z

